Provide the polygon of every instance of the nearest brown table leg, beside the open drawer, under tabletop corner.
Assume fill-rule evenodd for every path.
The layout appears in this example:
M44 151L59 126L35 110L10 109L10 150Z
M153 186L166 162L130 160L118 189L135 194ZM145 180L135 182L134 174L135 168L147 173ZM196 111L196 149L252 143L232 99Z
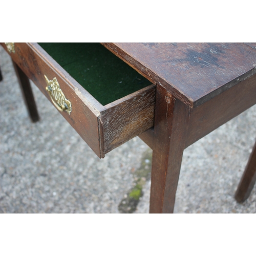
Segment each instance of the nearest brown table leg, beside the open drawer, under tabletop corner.
M189 107L157 86L150 213L173 213Z

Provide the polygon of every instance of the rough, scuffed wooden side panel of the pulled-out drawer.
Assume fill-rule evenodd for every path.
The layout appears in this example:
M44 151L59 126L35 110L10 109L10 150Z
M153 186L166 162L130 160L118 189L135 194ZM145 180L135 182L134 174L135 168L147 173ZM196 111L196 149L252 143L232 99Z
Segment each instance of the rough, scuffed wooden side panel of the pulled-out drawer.
M155 97L156 86L152 84L105 105L106 109L99 117L102 123L100 134L103 134L105 154L154 126ZM124 115L121 114L123 110ZM121 118L122 122L118 123ZM114 125L116 123L119 125ZM131 130L127 132L128 128Z

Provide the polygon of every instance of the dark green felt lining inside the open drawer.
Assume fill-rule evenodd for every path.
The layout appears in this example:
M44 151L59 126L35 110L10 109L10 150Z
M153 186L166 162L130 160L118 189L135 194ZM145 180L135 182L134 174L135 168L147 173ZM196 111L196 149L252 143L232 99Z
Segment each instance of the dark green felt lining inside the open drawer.
M38 43L102 105L151 84L99 43Z

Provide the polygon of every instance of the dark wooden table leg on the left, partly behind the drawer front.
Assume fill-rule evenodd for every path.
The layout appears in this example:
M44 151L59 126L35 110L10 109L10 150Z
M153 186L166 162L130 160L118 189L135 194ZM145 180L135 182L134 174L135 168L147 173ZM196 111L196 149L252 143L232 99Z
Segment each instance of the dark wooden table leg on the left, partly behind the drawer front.
M23 98L26 103L30 119L32 122L37 122L39 120L39 115L29 79L14 61L12 61L12 63L18 78L20 89L22 89Z

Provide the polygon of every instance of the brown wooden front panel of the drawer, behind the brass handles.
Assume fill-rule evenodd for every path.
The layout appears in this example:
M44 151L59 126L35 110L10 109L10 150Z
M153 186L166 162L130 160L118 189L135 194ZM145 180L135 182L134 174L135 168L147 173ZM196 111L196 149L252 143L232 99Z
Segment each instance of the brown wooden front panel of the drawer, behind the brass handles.
M2 44L7 50L5 44ZM72 104L72 111L61 112L61 115L73 126L84 141L99 156L100 139L98 129L98 116L100 115L100 105L96 109L90 100L93 98L69 75L63 74L62 68L53 59L47 59L44 51L40 50L37 44L15 43L15 53L10 53L13 61L23 70L23 72L36 84L40 91L52 102L46 90L47 80L54 77L59 83L65 97ZM90 98L91 97L91 98ZM97 104L97 103L96 103ZM38 106L38 109L43 106ZM61 127L60 131L61 133Z

